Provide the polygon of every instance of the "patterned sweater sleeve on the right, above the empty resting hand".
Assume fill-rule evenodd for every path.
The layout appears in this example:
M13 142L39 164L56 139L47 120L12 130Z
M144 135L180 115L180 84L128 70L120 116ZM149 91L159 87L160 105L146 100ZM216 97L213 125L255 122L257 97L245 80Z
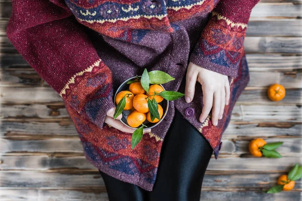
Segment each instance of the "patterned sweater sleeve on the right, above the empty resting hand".
M237 77L247 24L259 0L220 0L189 60L203 68Z

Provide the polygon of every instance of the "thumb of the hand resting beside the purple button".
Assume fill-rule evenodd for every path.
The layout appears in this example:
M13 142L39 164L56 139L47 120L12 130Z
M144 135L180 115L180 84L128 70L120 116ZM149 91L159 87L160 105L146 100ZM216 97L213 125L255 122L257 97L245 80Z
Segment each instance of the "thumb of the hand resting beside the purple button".
M193 100L197 75L198 75L197 73L195 73L193 70L191 70L190 67L188 67L188 71L186 74L186 89L185 89L185 99L187 103L190 103Z

